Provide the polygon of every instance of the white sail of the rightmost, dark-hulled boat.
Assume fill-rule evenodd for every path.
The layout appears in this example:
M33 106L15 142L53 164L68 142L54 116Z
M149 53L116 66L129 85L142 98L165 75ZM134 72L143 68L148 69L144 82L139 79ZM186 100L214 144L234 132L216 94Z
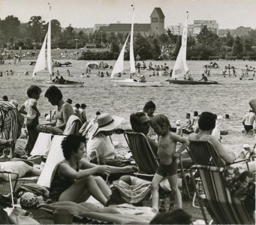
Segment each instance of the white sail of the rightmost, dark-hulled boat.
M185 20L184 28L182 31L182 45L179 49L179 54L176 58L175 65L173 67L173 79L183 79L183 76L189 71L186 62L187 55L187 34L188 34L188 17Z

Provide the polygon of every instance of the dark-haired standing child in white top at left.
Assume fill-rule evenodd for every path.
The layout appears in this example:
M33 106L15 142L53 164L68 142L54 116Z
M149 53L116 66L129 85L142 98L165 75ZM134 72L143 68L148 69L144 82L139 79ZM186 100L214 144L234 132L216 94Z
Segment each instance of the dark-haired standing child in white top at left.
M41 92L42 91L38 86L30 86L27 90L29 99L26 100L23 106L20 108L20 113L27 115L26 127L28 129L29 139L25 149L28 156L30 155L35 142L38 139L38 131L36 131L35 128L39 124L38 118L41 115L37 107Z

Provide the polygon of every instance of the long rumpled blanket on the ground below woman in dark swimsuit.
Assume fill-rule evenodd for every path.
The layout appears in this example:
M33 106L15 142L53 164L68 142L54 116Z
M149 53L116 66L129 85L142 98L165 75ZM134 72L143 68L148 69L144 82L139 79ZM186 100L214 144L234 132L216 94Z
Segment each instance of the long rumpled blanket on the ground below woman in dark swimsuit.
M41 209L52 212L57 208L64 208L77 217L87 217L108 223L148 224L151 219L151 217L136 214L120 214L119 211L116 211L113 208L98 208L97 206L87 202L80 204L74 202L56 202L41 207Z

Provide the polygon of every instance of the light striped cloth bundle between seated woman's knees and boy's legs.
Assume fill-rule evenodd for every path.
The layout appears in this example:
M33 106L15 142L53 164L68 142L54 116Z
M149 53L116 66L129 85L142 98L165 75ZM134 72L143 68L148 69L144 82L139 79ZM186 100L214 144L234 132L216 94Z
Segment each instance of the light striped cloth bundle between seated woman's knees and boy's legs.
M129 185L125 181L118 181L113 183L115 188L120 195L120 198L125 200L126 203L138 203L145 199L150 193L151 184L137 184ZM113 190L113 188L111 188ZM113 190L113 193L116 192Z

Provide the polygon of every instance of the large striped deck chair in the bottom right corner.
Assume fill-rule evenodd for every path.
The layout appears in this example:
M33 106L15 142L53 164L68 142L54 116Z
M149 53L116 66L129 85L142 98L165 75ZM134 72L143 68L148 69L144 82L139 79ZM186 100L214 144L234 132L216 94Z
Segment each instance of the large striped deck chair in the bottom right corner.
M249 214L244 202L231 196L224 185L224 168L215 166L191 166L191 178L194 187L197 187L192 175L192 170L197 169L203 182L206 199L197 192L197 199L206 224L209 224L203 205L215 223L221 224L255 224L253 213Z

